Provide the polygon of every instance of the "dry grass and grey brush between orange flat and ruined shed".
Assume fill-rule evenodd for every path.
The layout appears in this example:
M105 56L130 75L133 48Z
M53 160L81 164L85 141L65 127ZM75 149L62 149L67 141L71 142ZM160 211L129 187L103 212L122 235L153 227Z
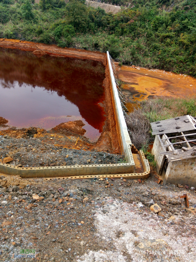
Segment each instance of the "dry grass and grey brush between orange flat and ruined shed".
M131 131L131 141L137 149L145 148L154 138L151 122L177 116L196 116L195 99L155 98L144 101L141 107L126 116L126 125Z

